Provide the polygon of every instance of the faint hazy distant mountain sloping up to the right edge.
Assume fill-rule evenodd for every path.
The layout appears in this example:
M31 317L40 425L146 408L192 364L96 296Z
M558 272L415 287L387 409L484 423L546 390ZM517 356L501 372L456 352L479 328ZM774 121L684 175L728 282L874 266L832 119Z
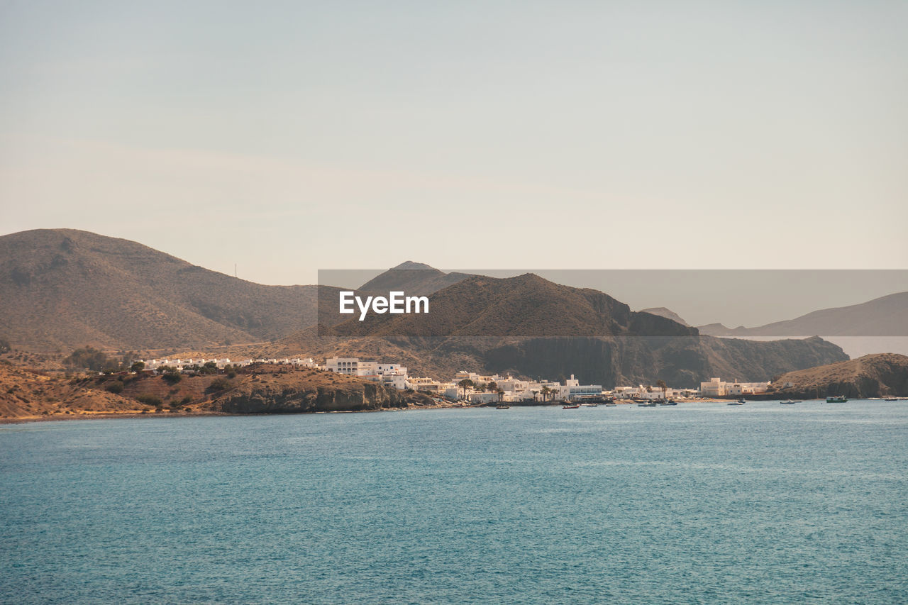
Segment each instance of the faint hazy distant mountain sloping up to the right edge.
M756 328L726 328L721 323L700 326L712 336L908 336L908 292L889 294L847 307L823 309L785 322Z

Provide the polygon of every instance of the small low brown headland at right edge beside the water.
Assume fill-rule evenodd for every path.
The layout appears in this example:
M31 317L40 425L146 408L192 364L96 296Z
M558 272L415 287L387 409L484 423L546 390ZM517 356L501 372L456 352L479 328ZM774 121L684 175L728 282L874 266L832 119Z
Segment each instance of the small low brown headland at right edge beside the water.
M852 398L908 396L908 356L894 353L864 355L786 372L773 381L775 397L810 399L827 395Z

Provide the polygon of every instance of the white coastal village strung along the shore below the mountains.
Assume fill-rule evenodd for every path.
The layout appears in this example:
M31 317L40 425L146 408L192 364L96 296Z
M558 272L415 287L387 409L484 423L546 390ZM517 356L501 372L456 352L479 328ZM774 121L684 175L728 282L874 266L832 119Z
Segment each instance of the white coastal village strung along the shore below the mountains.
M400 391L425 392L449 400L471 404L493 402L581 402L600 399L630 401L676 401L725 396L745 396L766 392L770 382L724 382L713 378L701 382L699 389L675 388L665 384L618 386L605 390L601 384L580 384L571 374L562 381L524 380L509 375L458 372L450 381L410 376L408 369L399 363L380 363L361 360L357 357L330 357L323 364L311 357L283 359L244 359L232 361L227 358L198 359L151 359L142 360L143 372L160 373L176 371L198 372L202 368L223 371L227 368L243 367L254 363L284 364L291 367L311 368L325 372L336 372L348 376L380 382Z

